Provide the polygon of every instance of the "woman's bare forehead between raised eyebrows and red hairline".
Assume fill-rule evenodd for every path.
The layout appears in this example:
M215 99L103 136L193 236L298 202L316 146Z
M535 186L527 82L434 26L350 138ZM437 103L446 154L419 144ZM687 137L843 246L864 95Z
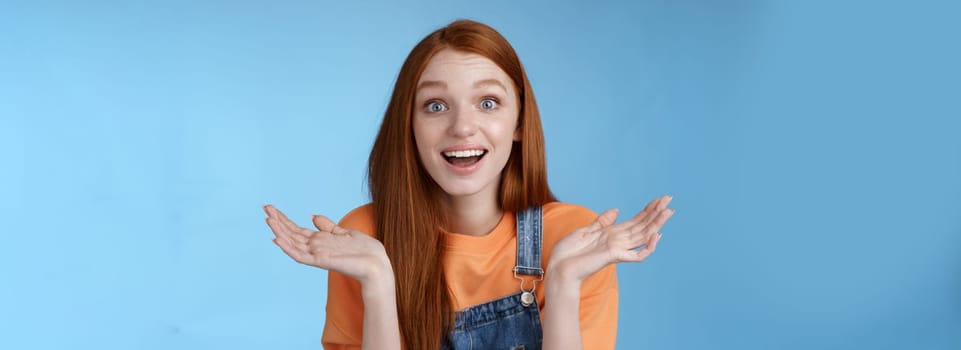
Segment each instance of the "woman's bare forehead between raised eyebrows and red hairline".
M507 76L494 61L476 53L444 49L434 54L421 74L418 84L423 81L442 81L448 84L472 84L478 80L497 79L504 86L510 86Z

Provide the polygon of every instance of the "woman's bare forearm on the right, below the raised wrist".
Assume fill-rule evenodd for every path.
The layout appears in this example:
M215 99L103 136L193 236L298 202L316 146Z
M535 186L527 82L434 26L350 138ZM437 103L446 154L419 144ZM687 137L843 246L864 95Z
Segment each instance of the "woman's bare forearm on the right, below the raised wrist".
M558 273L545 282L544 349L581 349L581 281Z

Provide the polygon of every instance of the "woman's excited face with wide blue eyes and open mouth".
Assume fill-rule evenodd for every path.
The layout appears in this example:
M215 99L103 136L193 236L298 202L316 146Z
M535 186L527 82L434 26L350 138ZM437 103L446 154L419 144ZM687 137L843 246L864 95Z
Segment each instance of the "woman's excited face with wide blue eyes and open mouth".
M451 197L497 198L519 106L511 79L484 56L445 49L417 82L414 141L431 178Z

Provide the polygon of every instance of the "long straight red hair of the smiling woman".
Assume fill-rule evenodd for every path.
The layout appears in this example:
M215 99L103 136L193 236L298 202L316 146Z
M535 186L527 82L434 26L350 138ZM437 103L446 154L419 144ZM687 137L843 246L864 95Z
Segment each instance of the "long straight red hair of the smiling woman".
M400 69L368 164L377 235L394 268L401 342L407 349L439 347L454 319L441 266L440 230L447 220L443 190L419 159L412 127L417 82L427 62L443 49L487 57L507 73L518 92L522 136L514 142L501 176L501 209L517 212L555 200L547 185L537 103L514 48L493 28L470 20L454 21L427 35Z

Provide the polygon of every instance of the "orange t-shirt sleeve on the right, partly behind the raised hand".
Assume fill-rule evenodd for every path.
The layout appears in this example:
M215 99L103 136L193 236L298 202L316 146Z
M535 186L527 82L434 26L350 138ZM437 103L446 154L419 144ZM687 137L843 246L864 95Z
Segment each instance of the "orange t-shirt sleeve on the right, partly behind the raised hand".
M596 213L581 206L563 203L548 206L545 206L544 213L544 243L547 247L553 247L567 234L597 219ZM548 261L543 263L547 266ZM617 307L617 268L612 264L588 277L581 285L579 316L584 349L614 349Z

